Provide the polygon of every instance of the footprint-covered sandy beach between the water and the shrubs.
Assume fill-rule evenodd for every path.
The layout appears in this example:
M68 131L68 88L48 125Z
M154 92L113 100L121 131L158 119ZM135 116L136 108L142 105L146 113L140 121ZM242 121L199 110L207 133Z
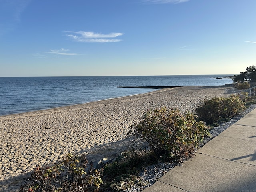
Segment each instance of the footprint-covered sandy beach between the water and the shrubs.
M0 191L15 186L35 166L63 154L100 160L125 149L132 124L147 109L162 106L192 112L202 100L239 92L232 86L187 86L110 100L0 116Z

